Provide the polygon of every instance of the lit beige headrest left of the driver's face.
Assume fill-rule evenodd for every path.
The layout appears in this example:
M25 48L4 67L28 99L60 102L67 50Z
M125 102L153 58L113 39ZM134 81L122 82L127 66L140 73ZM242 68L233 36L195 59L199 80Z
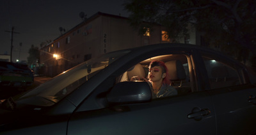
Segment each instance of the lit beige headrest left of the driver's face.
M144 68L142 67L142 65L140 65L140 64L137 64L137 65L135 65L134 67L130 68L130 69L127 71L127 74L128 74L129 80L130 80L131 77L133 77L133 76L138 76L138 77L140 77L140 78L146 77L145 70L144 70Z

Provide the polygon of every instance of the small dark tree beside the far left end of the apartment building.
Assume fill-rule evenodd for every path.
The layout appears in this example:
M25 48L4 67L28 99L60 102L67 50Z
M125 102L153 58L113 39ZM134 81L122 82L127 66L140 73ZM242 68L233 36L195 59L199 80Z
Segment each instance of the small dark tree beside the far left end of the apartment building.
M34 45L31 45L28 53L28 65L33 65L40 60L40 53L38 47L34 47Z

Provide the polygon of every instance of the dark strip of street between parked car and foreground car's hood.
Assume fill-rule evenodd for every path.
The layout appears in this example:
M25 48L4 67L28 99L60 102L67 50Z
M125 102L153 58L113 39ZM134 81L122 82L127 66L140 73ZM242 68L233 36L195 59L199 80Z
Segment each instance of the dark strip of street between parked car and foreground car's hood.
M39 86L42 83L45 83L46 81L49 81L51 77L45 77L45 76L35 76L34 83L31 86L28 86L27 88L11 88L8 86L4 86L0 88L0 100L7 99L8 97L15 97L17 95L21 95L22 93L33 90L36 86Z

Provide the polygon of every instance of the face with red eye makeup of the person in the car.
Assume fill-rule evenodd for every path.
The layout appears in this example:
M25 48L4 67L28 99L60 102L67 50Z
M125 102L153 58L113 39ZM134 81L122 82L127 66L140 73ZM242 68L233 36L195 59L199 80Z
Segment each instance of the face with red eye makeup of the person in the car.
M152 82L163 81L165 75L166 73L163 73L160 66L155 66L148 70L148 79Z

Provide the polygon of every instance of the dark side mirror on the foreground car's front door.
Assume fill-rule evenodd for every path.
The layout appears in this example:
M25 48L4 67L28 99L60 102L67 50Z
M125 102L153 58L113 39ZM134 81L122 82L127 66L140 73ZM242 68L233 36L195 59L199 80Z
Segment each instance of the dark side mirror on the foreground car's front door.
M149 102L152 93L147 82L125 81L116 84L107 95L107 100L113 104L129 104Z

